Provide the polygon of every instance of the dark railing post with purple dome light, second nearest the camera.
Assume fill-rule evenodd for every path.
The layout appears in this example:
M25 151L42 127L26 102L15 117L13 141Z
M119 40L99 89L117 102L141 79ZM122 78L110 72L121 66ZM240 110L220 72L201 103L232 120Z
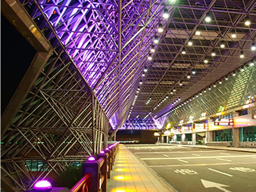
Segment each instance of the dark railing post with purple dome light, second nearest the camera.
M94 157L89 157L86 162L84 162L82 167L82 174L90 173L91 174L91 183L89 187L89 192L98 192L99 191L99 178L101 178L100 172L100 162L96 161Z

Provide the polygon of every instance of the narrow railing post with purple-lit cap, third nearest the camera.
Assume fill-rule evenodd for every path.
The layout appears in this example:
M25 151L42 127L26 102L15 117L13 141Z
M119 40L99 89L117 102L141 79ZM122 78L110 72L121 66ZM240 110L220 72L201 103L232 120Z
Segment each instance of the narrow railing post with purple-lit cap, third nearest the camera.
M97 155L97 160L99 160L100 158L104 159L104 163L103 165L100 167L100 171L101 174L104 176L102 184L101 184L101 188L102 188L102 192L107 191L107 175L108 172L110 172L110 170L108 170L108 153L105 153L105 151L100 151L100 153Z

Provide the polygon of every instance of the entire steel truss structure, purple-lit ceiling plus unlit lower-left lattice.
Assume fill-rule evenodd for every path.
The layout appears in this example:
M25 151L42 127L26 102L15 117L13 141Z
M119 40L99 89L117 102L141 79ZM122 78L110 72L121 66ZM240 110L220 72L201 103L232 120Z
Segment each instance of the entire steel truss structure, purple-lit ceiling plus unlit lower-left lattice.
M38 51L1 117L2 182L13 191L31 189L50 172L60 174L99 152L111 127L142 122L146 128L161 128L184 115L196 118L204 109L211 114L220 104L232 108L243 104L247 94L255 96L251 67L246 75L239 72L218 90L169 113L256 58L250 49L256 39L255 0L172 2L1 1L1 13ZM166 10L169 18L163 18ZM247 17L249 26L244 25ZM31 157L47 169L33 175L25 166Z

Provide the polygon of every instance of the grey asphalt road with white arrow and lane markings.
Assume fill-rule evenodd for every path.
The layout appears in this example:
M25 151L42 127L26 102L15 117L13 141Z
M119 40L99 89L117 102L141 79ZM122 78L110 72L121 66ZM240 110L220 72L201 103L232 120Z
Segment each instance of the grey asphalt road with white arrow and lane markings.
M179 192L256 192L256 153L127 145Z

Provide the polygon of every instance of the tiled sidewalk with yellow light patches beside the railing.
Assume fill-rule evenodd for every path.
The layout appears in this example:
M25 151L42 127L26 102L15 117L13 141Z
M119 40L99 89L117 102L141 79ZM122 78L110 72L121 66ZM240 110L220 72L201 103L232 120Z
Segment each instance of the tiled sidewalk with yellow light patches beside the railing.
M107 192L173 192L166 181L120 144Z

